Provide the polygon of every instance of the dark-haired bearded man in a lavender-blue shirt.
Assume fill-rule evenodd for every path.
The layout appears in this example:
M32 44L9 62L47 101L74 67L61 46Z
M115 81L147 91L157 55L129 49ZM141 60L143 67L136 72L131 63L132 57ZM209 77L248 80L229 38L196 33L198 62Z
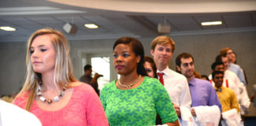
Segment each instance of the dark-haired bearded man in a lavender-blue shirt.
M192 98L191 114L197 117L194 109L196 106L218 106L221 113L220 101L211 83L194 77L194 57L191 54L182 53L176 57L175 63L179 72L186 76L189 83Z

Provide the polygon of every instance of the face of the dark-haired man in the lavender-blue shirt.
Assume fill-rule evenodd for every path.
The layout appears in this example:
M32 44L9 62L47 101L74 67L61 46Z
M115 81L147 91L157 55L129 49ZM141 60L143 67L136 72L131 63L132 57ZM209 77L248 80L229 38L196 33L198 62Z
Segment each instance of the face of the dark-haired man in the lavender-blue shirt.
M178 70L186 76L186 78L190 78L194 76L194 61L192 57L189 58L181 58L180 67L177 66Z

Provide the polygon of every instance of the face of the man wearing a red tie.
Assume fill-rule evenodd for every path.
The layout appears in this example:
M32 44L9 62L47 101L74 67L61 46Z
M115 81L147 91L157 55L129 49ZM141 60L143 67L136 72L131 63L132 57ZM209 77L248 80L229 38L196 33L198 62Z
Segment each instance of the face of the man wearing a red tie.
M172 52L171 44L156 45L155 50L151 50L152 57L156 65L168 66L168 62L171 61Z

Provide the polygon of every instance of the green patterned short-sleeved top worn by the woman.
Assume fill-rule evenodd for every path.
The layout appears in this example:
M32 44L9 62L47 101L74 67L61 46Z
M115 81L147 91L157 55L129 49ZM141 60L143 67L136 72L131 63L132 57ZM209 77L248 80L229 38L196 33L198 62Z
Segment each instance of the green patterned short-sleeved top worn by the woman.
M113 125L155 125L156 113L163 124L178 119L168 92L159 80L145 76L140 86L120 90L115 81L108 83L100 94L108 123Z

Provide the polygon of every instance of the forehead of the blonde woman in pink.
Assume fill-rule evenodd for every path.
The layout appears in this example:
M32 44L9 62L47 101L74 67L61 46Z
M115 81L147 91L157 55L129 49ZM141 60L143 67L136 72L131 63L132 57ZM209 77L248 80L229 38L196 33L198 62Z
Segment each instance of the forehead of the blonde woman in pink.
M33 39L31 46L52 46L51 35L37 36L35 39Z

